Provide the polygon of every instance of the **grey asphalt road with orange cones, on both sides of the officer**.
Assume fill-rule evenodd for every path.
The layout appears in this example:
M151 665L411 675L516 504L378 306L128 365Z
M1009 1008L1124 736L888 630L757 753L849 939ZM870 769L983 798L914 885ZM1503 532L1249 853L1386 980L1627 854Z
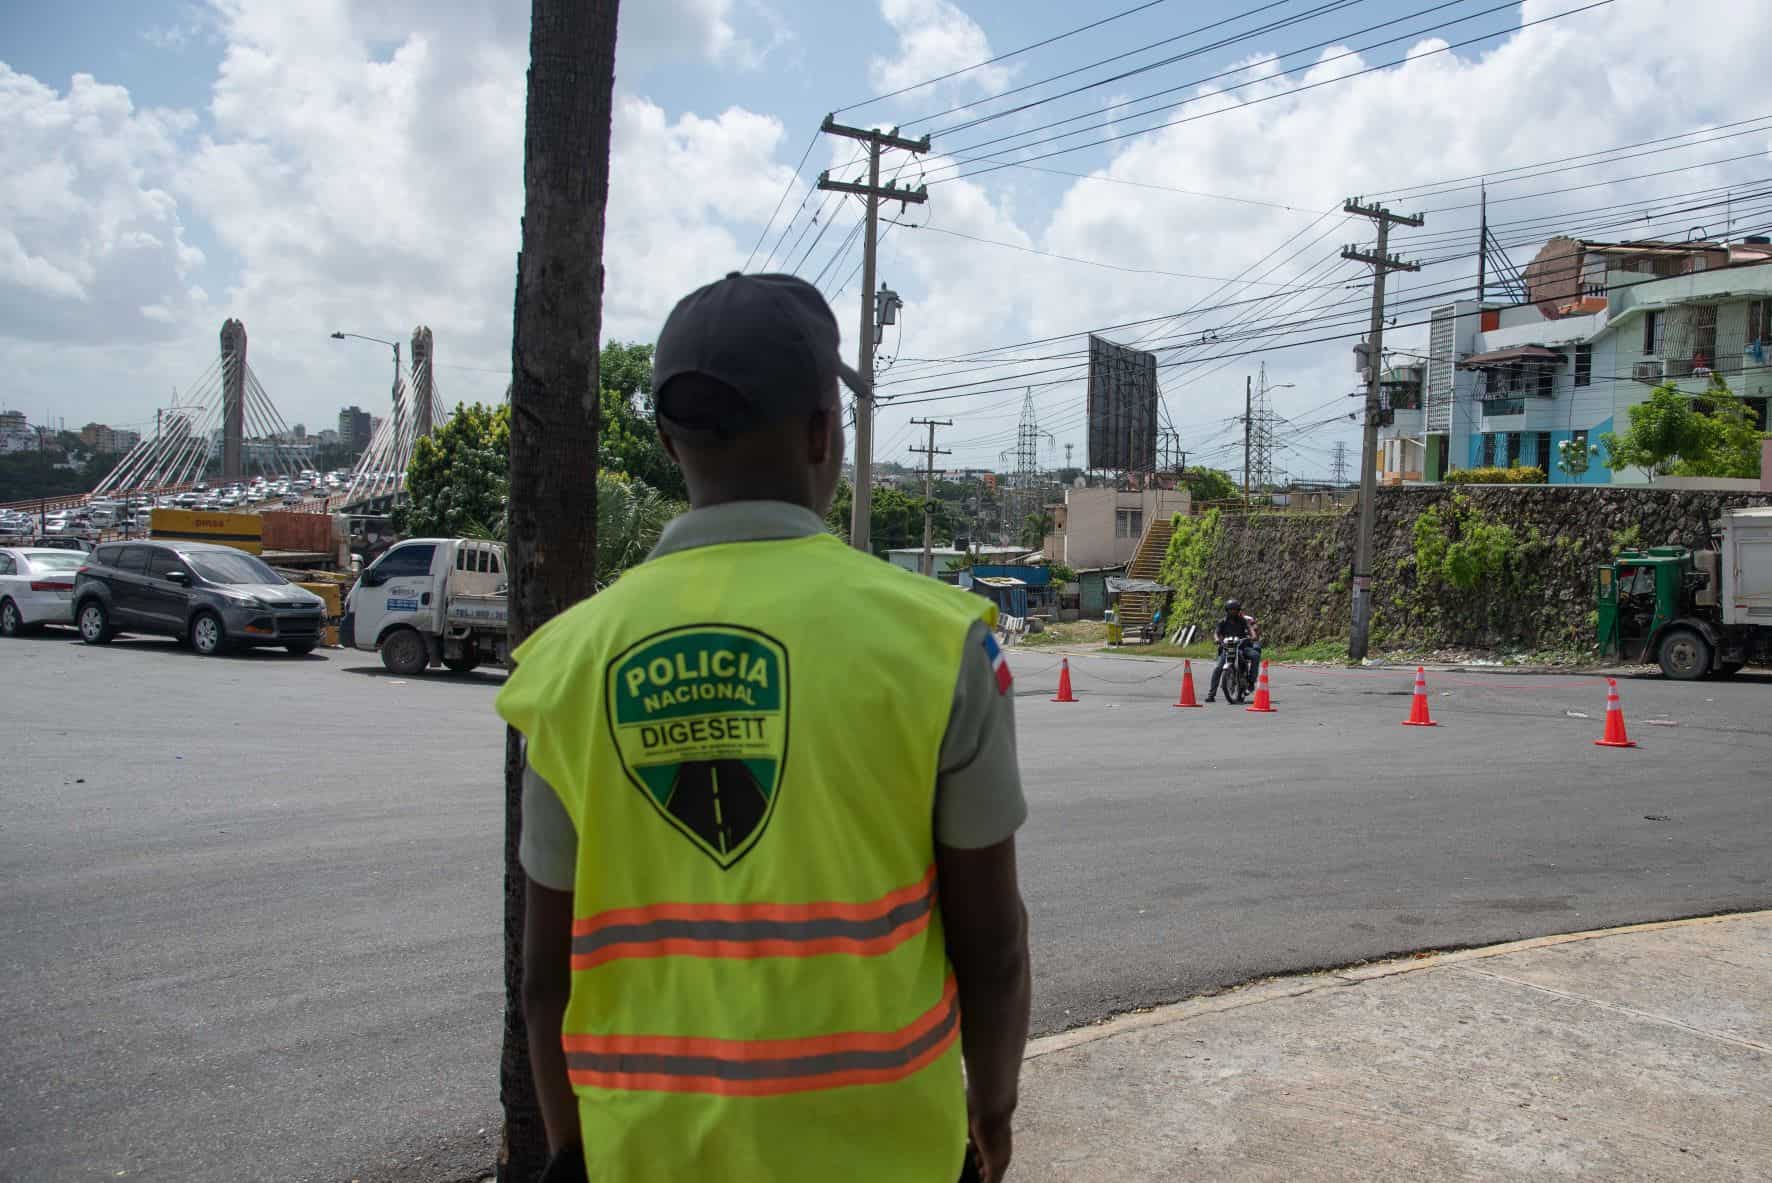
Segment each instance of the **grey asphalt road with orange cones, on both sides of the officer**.
M0 1179L457 1179L498 1132L498 675L5 643ZM1035 1027L1249 978L1772 905L1772 678L1017 652ZM1200 671L1203 675L1203 671ZM1203 678L1201 678L1203 689ZM1586 719L1568 712L1586 714ZM1660 717L1662 724L1650 719ZM1675 724L1675 726L1667 726ZM1655 820L1650 820L1655 818ZM128 1174L120 1174L128 1172Z

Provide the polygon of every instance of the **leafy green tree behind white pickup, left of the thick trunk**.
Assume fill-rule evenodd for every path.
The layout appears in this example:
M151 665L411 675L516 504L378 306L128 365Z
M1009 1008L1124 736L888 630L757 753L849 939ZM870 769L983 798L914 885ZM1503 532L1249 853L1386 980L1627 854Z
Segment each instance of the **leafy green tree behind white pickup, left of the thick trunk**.
M413 445L393 528L434 538L503 538L510 501L510 407L484 402Z

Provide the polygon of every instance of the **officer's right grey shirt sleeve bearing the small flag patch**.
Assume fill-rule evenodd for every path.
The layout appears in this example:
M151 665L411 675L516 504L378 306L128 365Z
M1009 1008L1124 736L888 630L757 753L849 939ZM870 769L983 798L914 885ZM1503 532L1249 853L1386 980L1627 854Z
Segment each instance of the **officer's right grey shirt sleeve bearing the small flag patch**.
M983 622L966 634L936 776L936 841L960 850L994 847L1028 820L1015 760L1015 698L998 691L985 634Z

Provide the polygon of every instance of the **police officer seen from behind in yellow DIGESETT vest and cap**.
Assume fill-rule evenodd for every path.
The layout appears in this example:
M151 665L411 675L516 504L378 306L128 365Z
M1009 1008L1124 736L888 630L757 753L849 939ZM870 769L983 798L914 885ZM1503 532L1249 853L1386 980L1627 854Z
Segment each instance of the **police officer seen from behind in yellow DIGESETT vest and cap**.
M652 393L691 510L528 638L498 696L528 753L551 1179L1008 1167L1030 1002L1010 673L989 600L826 533L840 375L858 388L803 280L686 296Z

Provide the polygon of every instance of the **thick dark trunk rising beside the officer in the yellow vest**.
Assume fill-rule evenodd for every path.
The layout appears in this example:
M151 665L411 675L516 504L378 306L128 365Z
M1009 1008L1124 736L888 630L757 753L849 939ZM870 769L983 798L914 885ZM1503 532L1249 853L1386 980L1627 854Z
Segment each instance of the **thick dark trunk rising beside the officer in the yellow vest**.
M597 338L618 0L533 0L523 248L510 342L510 636L590 595L597 570ZM505 737L501 1183L530 1183L548 1139L523 1022L523 753Z

